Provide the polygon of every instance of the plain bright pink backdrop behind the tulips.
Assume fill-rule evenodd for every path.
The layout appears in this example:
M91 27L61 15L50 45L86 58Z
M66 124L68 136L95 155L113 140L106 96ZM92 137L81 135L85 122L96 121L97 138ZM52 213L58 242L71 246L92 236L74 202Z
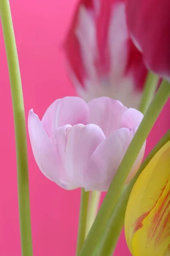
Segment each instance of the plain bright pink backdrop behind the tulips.
M75 95L65 72L62 41L77 0L11 0L20 60L26 119L30 108L42 117L55 99ZM0 255L20 256L14 124L3 34L0 28ZM170 102L147 140L147 152L170 128ZM74 256L79 189L66 191L41 174L28 139L34 256ZM115 256L130 256L124 234Z

